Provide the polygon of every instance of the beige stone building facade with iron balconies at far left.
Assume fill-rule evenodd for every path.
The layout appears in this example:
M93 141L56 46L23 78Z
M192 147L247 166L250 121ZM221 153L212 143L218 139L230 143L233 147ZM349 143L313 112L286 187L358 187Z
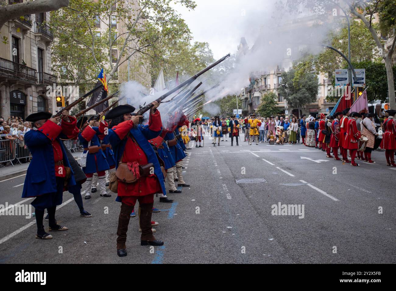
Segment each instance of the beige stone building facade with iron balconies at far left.
M13 5L23 0L0 0ZM51 72L53 33L46 24L49 12L8 21L0 30L0 116L23 119L39 111L52 111L47 86L56 84Z

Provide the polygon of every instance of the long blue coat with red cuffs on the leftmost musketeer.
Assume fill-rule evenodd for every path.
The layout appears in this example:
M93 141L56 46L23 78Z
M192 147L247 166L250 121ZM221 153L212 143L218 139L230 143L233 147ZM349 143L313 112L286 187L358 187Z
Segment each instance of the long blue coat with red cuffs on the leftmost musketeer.
M25 183L22 190L22 198L36 197L47 193L57 192L55 179L55 161L53 156L52 141L58 141L62 149L63 165L70 167L66 151L60 135L71 136L76 129L76 118L69 116L69 122L62 120L58 126L51 120L47 120L39 129L29 130L25 133L25 144L32 153L32 161L27 169ZM76 184L73 170L67 186Z

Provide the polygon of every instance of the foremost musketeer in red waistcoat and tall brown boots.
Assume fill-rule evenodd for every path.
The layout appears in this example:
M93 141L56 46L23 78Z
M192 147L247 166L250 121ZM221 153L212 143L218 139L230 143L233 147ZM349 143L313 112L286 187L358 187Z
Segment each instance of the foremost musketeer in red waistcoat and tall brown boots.
M160 112L157 110L158 102L152 102L148 125L139 124L139 118L132 116L135 108L130 105L120 105L109 111L107 118L111 119L109 126L109 141L114 151L116 168L122 165L128 167L137 180L126 183L118 179L117 199L121 202L121 211L118 217L117 229L117 255L125 257L126 237L130 214L135 203L139 200L139 217L141 245L163 245L164 242L156 240L152 235L151 215L155 193L165 193L164 175L158 162L157 155L148 142L157 137L162 129ZM152 164L152 165L150 165ZM150 166L150 173L140 174L140 167ZM151 174L151 167L154 173ZM127 172L129 172L127 170ZM129 178L128 178L129 179Z

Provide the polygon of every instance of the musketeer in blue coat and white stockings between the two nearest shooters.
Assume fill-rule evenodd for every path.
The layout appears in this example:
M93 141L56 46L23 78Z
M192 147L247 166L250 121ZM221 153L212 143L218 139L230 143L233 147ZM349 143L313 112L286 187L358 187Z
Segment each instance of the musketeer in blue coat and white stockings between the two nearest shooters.
M99 120L102 120L103 112L99 114ZM83 124L83 126L82 126ZM85 186L85 199L91 198L91 187L92 187L92 177L93 173L98 174L100 196L111 197L106 191L106 170L110 169L107 163L106 156L103 153L99 137L103 137L105 129L107 128L107 123L101 121L99 127L93 126L95 120L91 119L85 121L84 118L80 118L77 122L77 127L82 128L82 132L79 133L78 139L81 145L84 147L83 156L86 155L86 161L84 164L84 158L82 158L82 170L84 171L87 181L84 183Z

